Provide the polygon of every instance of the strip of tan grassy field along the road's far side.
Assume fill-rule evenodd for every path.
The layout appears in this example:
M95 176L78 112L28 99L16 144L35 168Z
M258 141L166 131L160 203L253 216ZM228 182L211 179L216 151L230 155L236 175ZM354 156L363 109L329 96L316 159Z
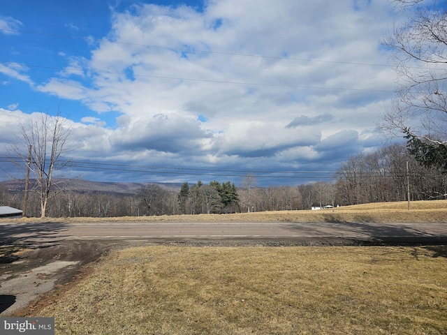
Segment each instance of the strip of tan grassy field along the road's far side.
M177 221L177 222L447 222L447 200L377 202L318 211L260 211L240 214L132 216L119 218L27 218L22 221Z

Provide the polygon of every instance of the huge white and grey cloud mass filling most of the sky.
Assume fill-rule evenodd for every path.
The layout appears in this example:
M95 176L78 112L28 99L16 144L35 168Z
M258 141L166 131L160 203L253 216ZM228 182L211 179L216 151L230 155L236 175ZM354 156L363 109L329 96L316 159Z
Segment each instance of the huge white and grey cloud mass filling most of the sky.
M82 118L75 132L90 153L191 165L339 162L376 143L374 121L392 96L395 73L380 66L379 45L390 9L386 0L210 0L203 12L133 4L113 13L88 57L59 52L68 66L36 89L121 115L113 129Z

